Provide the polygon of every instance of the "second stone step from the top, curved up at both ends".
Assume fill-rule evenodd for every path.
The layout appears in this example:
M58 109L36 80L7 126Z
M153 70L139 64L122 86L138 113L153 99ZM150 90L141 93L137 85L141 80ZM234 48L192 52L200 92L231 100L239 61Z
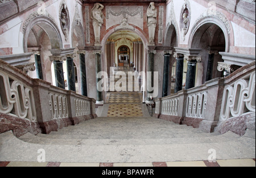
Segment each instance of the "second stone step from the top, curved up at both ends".
M67 136L67 135L65 135ZM234 141L240 138L239 135L228 132L223 135L208 134L205 137L192 138L147 138L147 139L79 139L79 138L47 138L27 133L20 137L24 142L42 144L42 145L171 145L171 144L188 144L188 143L218 143Z

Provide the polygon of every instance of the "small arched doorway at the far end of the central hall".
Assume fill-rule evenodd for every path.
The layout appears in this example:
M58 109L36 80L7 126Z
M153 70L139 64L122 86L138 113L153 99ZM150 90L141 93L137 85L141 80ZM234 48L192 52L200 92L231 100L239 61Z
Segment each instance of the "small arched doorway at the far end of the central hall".
M130 48L126 45L120 46L117 50L118 67L130 67Z

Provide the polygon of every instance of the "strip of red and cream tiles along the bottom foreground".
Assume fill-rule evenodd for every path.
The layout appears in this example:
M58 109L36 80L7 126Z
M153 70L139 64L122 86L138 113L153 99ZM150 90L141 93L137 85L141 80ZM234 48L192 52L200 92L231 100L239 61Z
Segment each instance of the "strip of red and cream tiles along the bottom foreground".
M255 159L208 160L195 162L153 162L153 163L38 163L0 162L0 167L255 167Z

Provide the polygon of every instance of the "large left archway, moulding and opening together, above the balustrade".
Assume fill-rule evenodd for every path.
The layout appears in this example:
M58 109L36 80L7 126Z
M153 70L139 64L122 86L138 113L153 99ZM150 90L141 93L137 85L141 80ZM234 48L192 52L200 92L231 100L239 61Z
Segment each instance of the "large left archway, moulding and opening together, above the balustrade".
M48 65L51 56L49 50L63 48L58 27L51 18L42 15L26 21L23 32L24 53L36 52L30 60L35 62L36 71L30 72L30 77L52 83L51 65Z

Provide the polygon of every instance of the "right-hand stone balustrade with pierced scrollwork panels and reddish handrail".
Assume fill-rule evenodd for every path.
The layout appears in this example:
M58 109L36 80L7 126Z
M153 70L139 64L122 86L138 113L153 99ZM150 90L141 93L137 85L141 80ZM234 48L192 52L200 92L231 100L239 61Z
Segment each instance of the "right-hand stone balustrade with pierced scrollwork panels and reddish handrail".
M178 124L193 122L195 127L204 122L201 127L207 132L222 121L249 113L255 113L255 61L228 77L159 98L155 108L155 117L178 119Z

